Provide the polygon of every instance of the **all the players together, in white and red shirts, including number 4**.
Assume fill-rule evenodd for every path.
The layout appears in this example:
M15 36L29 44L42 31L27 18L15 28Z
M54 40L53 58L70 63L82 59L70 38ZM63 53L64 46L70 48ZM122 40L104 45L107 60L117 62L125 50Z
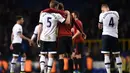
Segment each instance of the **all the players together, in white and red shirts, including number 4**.
M110 71L110 53L115 55L119 73L122 73L122 62L118 48L118 20L119 15L116 11L109 11L108 5L104 4L101 7L102 13L99 17L99 29L103 28L102 33L102 53L104 53L104 63L107 73ZM24 62L26 55L21 49L22 39L28 40L30 46L37 35L37 45L40 47L40 71L41 73L51 73L51 68L54 60L54 54L59 55L60 73L64 73L64 54L68 54L69 61L73 58L78 62L82 69L82 49L86 35L83 32L82 22L78 19L78 12L70 13L64 10L64 5L57 1L50 2L50 8L47 8L40 13L39 25L36 26L32 38L25 37L22 32L24 19L17 16L17 22L12 29L12 44L13 58L11 61L10 73L14 73L14 68L17 63L19 53L21 53L21 73L24 73ZM73 36L72 36L73 35ZM58 38L58 39L57 39ZM72 41L76 46L76 52L72 53ZM58 51L56 51L58 48ZM76 54L76 56L75 56ZM70 64L69 64L70 65ZM77 66L77 65L76 65ZM69 72L73 73L71 66ZM73 66L72 66L73 67ZM82 70L80 70L82 73Z

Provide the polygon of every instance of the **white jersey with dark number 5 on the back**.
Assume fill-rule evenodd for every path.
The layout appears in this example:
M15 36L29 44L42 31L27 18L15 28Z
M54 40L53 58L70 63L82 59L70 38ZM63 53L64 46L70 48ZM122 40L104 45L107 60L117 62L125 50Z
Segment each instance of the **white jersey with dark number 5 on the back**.
M39 22L43 24L40 40L56 41L57 23L63 23L65 18L58 13L41 13Z

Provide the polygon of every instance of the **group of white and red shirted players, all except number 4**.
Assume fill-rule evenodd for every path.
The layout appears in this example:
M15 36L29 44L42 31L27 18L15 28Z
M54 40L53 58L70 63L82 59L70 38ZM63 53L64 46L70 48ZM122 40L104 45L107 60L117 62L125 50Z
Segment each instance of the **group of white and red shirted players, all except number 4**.
M17 22L12 29L12 44L10 46L13 49L13 59L11 61L10 73L14 73L14 68L17 63L19 53L21 53L21 73L24 72L24 62L26 55L21 49L22 39L28 40L30 46L37 34L37 45L40 47L40 71L41 73L51 73L53 65L54 54L59 55L60 73L63 73L64 67L64 54L68 54L71 59L72 41L75 40L75 44L78 44L78 48L82 48L84 38L86 35L83 32L82 22L78 19L78 12L70 13L68 10L64 10L64 5L57 1L50 2L50 8L47 8L40 13L39 25L36 26L32 38L25 37L22 32L22 26L24 19L21 16L17 16ZM74 34L72 36L72 33ZM58 39L57 39L58 38ZM58 48L58 51L56 51ZM81 59L81 49L77 52L76 56ZM79 62L81 63L81 61ZM80 64L81 66L81 64ZM73 66L72 66L73 67ZM69 68L72 71L72 68Z

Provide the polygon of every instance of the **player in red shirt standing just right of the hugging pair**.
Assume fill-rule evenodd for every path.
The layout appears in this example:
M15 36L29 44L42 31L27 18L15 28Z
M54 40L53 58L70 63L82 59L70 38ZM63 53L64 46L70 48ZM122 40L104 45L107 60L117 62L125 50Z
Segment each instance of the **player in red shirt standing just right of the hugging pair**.
M75 22L78 24L80 29L83 30L83 25L82 22L79 20L79 13L77 11L72 12L72 17L74 18ZM81 32L73 26L73 37L72 40L74 40L74 45L76 48L76 58L74 59L75 63L75 68L78 70L78 65L79 65L79 71L82 72L82 50L83 50L83 44L84 44L84 38L82 37Z

